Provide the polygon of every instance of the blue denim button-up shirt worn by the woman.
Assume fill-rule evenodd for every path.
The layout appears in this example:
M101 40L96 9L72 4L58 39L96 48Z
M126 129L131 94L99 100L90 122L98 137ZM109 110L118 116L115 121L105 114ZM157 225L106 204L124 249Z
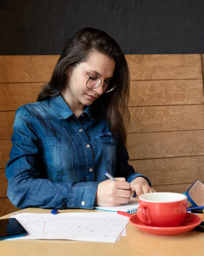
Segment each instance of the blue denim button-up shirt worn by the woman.
M77 118L62 96L26 104L17 109L13 129L7 196L20 209L92 209L105 171L129 183L144 177L91 106Z

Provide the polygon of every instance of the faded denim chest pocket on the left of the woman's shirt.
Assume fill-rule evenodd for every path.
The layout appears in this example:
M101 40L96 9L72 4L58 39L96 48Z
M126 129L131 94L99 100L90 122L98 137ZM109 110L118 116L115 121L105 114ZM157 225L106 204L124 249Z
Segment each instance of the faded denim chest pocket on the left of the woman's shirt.
M63 137L43 137L47 165L54 172L63 174L73 168L72 141Z

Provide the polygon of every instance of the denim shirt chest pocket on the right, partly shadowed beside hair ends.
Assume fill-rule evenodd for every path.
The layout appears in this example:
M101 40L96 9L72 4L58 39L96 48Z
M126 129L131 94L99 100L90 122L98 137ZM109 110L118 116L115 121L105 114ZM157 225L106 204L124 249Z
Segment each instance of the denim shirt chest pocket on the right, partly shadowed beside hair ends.
M98 134L96 137L103 148L106 163L115 166L118 139L111 132Z

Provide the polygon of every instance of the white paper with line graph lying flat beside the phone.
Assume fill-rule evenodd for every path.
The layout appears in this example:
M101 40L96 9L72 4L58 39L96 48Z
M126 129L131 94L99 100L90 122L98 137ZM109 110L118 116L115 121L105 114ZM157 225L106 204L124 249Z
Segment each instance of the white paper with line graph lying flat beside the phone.
M29 233L10 240L69 239L114 243L126 235L129 218L115 212L20 213L16 218Z

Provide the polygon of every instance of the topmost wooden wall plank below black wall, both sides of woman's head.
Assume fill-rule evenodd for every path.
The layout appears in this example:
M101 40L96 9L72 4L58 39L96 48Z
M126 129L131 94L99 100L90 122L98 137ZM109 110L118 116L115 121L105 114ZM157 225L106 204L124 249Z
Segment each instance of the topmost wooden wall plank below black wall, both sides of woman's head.
M0 83L49 81L59 55L1 55ZM202 79L201 55L126 55L131 80Z

